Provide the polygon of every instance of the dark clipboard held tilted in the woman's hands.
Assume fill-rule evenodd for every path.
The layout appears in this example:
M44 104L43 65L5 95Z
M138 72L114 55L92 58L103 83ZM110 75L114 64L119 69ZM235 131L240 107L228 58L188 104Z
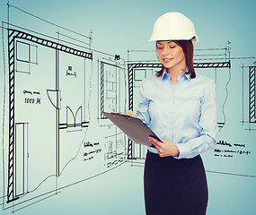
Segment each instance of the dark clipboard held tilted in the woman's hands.
M112 123L117 125L121 131L126 133L130 139L138 144L152 146L153 144L148 142L148 136L162 142L160 138L137 117L107 112L102 112L102 114L107 116Z

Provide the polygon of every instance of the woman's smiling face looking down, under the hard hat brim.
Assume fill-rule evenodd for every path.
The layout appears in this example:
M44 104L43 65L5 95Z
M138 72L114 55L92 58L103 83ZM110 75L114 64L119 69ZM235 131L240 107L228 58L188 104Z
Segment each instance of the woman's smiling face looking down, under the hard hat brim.
M171 73L171 71L184 71L186 69L186 56L182 47L172 42L172 40L157 41L156 49L157 57L163 66L167 68L168 73Z

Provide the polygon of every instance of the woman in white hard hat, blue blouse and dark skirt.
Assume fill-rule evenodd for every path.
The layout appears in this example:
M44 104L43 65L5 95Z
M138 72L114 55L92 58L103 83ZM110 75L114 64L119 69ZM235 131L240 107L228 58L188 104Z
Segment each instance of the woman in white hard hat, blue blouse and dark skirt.
M193 23L181 13L165 13L150 41L162 70L141 83L137 116L162 142L146 154L147 215L201 215L207 211L207 178L200 153L216 145L216 83L193 67ZM128 115L135 116L132 111Z

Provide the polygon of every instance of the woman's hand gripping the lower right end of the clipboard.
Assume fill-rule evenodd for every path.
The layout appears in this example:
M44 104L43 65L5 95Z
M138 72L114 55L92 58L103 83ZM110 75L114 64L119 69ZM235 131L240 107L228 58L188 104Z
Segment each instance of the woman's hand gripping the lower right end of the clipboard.
M162 142L159 142L153 137L148 137L148 141L154 144L156 150L158 150L159 152L160 157L179 156L180 154L177 146L172 142L169 142L167 140L161 140Z

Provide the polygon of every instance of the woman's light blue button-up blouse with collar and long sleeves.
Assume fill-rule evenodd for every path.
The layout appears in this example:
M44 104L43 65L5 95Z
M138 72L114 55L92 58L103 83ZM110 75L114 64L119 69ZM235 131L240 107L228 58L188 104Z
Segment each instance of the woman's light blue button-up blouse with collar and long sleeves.
M160 139L180 150L177 159L193 158L216 146L216 83L197 73L181 74L171 82L171 74L151 76L140 85L137 117ZM158 151L153 147L148 150Z

